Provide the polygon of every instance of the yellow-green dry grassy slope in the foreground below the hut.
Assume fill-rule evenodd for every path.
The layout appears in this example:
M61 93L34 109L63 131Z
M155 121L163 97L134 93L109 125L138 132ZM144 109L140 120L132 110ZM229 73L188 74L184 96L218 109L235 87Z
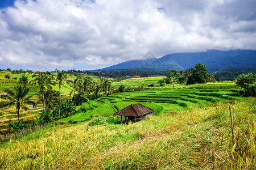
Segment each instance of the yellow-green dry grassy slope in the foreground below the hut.
M56 126L5 143L0 162L7 169L210 169L213 143L221 158L229 152L228 105L232 105L235 134L238 130L242 134L249 120L256 118L254 98L193 106L129 125ZM216 158L216 168L223 159Z

